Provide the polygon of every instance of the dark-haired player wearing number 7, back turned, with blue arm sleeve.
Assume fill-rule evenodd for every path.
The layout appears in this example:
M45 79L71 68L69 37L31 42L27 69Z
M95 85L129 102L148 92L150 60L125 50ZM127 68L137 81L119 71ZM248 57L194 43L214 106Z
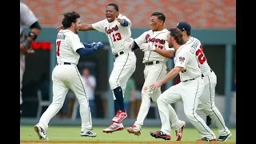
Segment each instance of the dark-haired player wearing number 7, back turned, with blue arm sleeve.
M42 114L34 130L39 139L46 140L46 130L50 119L62 108L66 94L72 90L80 104L80 115L82 120L81 136L96 137L92 131L92 122L89 101L86 95L85 82L78 71L80 56L92 54L103 47L102 42L92 45L80 42L78 30L81 27L80 15L76 12L64 14L62 25L65 30L59 30L56 38L57 65L52 73L53 80L53 102Z

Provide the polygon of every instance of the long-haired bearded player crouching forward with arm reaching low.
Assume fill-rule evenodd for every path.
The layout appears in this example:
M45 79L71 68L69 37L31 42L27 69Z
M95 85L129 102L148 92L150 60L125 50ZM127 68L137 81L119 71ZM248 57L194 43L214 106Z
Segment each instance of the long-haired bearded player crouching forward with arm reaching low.
M199 97L204 90L202 73L198 67L198 60L195 57L195 50L190 49L188 45L184 45L182 32L178 29L170 29L167 41L170 47L174 47L176 57L174 58L174 69L170 70L166 76L158 82L154 82L150 86L151 90L155 90L164 83L180 75L181 82L171 86L163 92L158 100L158 110L162 122L160 131L150 132L154 138L162 138L170 140L170 114L168 113L168 105L174 102L183 101L184 112L192 125L202 135L202 139L198 141L216 141L214 132L206 125L206 122L196 113Z

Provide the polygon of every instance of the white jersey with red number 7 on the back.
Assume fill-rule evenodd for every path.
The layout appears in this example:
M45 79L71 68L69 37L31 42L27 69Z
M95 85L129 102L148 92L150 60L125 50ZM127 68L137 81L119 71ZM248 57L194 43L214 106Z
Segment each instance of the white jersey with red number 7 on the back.
M56 39L57 62L70 62L78 64L80 55L76 52L79 48L85 48L80 42L78 34L71 30L59 30Z

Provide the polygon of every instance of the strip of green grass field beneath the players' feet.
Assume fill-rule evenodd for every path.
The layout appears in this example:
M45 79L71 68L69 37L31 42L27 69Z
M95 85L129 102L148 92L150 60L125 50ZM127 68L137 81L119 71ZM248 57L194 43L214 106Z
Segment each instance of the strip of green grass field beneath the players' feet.
M117 131L112 134L102 133L105 127L94 127L94 132L97 133L96 138L86 138L80 137L80 127L79 126L50 126L47 130L47 136L49 141L47 142L125 142L125 143L163 143L163 142L174 142L176 139L174 130L171 134L171 140L165 141L163 139L156 139L150 136L150 131L159 130L159 127L143 127L142 134L140 136L135 136L134 134L129 134L125 129L122 131ZM21 126L21 142L45 142L38 139L38 135L34 132L33 126ZM213 129L214 133L218 137L218 130ZM235 143L236 130L230 129L232 137L229 141L225 143ZM194 128L185 128L183 132L182 142L193 142L201 138L198 131ZM224 142L222 142L224 143Z

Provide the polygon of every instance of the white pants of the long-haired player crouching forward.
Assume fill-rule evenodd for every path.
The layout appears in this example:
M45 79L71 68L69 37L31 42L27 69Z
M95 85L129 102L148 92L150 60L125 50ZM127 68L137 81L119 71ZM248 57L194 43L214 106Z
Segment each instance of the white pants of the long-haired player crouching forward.
M215 139L215 134L206 125L206 122L196 113L199 97L204 90L204 83L201 77L188 82L180 82L171 86L163 92L158 98L158 110L162 122L162 132L170 134L170 114L168 113L168 105L174 102L183 101L184 112L192 125L198 130L202 138Z

